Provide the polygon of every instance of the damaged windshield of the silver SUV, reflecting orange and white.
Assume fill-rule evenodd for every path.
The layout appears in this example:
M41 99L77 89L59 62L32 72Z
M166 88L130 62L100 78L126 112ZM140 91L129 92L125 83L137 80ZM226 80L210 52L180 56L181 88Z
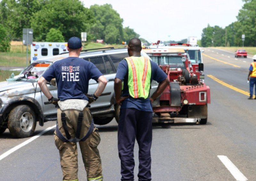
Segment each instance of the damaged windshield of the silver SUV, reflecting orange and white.
M49 67L51 62L34 62L31 63L27 68L23 69L18 76L13 74L7 79L7 81L16 81L16 80L32 80L37 81L38 77Z

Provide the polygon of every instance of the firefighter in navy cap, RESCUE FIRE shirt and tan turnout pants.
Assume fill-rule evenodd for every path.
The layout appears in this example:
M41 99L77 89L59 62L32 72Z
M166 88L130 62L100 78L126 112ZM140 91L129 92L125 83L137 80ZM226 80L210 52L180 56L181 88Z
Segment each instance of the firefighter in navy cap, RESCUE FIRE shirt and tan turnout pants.
M100 181L103 180L97 148L100 135L93 124L88 105L97 100L107 80L93 63L78 58L82 50L79 38L70 38L67 48L69 57L54 62L39 79L38 84L48 100L54 105L59 105L54 139L60 153L63 180L78 180L76 142L79 142L87 180ZM52 78L56 78L59 99L52 97L47 88L46 82ZM93 95L86 96L91 78L98 81L99 85Z

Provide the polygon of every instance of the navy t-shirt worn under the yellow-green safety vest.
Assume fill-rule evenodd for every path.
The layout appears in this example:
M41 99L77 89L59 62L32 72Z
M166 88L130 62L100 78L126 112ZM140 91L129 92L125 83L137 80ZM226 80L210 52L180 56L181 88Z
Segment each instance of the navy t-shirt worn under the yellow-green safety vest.
M151 63L151 79L155 80L156 82L160 83L166 79L167 75L165 72L158 67L158 65L150 61ZM129 88L128 88L128 63L126 60L122 60L118 64L117 72L116 72L116 78L121 79L124 82L124 87L122 91L122 97L129 96ZM147 111L147 112L153 112L151 102L149 98L146 98L144 100L135 99L135 98L126 98L121 104L121 109L123 108L135 108L140 111Z

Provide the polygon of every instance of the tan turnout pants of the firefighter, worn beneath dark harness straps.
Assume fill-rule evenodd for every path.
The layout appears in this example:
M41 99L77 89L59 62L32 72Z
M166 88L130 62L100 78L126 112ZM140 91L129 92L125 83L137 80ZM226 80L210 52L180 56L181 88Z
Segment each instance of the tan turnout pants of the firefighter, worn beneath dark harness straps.
M73 99L75 101L75 99ZM60 101L59 101L60 102ZM78 101L79 102L79 101ZM76 102L76 103L78 103ZM68 106L72 104L68 103ZM81 104L80 104L81 105ZM63 106L63 104L62 104ZM60 107L61 108L61 107ZM61 112L65 112L66 123L68 127L68 133L72 138L76 135L77 130L77 120L79 110L67 109L62 111L61 109L57 111L57 121L61 134L65 137L65 131L61 122ZM88 107L82 107L83 121L81 127L80 138L82 138L88 131L91 122L92 115ZM77 146L74 142L63 142L54 132L55 145L60 152L60 165L63 173L63 180L78 180L78 160L77 160ZM94 127L92 134L85 141L79 141L79 146L82 153L82 158L84 162L84 167L87 173L88 181L101 181L102 168L100 153L97 146L100 143L100 135L98 133L98 128ZM85 180L85 179L82 179Z

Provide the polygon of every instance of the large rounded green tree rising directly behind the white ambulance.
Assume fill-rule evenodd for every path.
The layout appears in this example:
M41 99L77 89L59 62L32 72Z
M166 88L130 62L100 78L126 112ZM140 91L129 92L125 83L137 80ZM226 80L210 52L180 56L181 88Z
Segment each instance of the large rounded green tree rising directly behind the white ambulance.
M45 6L31 20L34 39L44 41L51 28L59 29L66 41L72 36L80 37L93 24L92 16L79 0L45 1Z

